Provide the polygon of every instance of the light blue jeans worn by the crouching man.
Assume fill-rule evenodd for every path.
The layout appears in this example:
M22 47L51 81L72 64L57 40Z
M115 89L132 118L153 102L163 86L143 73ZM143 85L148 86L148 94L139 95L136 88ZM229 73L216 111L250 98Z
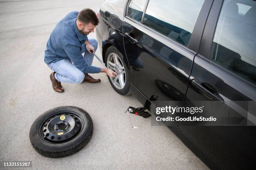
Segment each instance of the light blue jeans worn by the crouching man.
M96 51L98 47L97 40L90 39L89 42ZM84 53L84 61L91 66L94 55L90 54L85 46L85 44L82 44L81 54ZM84 73L74 66L69 59L52 62L48 67L56 72L54 77L60 82L81 83L84 80Z

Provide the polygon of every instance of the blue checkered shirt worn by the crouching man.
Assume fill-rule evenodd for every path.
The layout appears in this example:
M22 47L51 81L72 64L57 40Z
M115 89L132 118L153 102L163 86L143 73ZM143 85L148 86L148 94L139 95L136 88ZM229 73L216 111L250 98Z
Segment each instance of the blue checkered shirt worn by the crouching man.
M77 11L67 14L51 32L44 52L44 62L49 65L63 59L70 59L84 73L98 73L99 67L88 65L81 54L87 35L77 30Z

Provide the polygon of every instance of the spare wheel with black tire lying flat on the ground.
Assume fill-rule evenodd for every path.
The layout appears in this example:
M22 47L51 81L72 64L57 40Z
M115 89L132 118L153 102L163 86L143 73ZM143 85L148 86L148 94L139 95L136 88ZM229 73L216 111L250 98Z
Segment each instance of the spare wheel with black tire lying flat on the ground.
M63 115L65 116L63 117ZM59 117L61 116L62 119L60 118L59 120ZM76 122L74 123L72 119ZM69 126L65 125L64 127L63 124L67 124L69 120L73 124L71 123ZM56 123L57 126L54 126L54 128L57 127L57 130L64 130L64 133L55 134L55 130L50 130L54 121L62 122L62 125L61 123ZM61 128L64 127L64 129L58 129L59 126L61 126ZM46 128L49 129L46 130ZM65 130L65 128L67 128L67 130ZM54 138L56 141L49 140L48 137L50 138L50 135L48 137L46 137L47 134L44 135L44 131L47 133L48 130L49 132L52 132L48 133L48 135L51 134L52 136L58 136L58 138ZM38 153L51 158L60 158L72 155L73 153L81 150L89 142L92 132L92 118L85 110L74 106L61 106L46 111L39 116L31 126L29 138L33 148ZM53 138L52 136L51 139ZM69 136L69 138L67 138L67 136ZM57 141L59 139L61 140Z

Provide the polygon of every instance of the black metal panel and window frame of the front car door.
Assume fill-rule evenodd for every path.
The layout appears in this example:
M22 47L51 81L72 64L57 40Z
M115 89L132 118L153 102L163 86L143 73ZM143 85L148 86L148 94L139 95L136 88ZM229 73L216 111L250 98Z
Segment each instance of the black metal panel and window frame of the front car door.
M239 117L243 120L241 123L247 125L256 118L256 113L249 108L252 102L248 102L256 101L255 86L208 59L222 5L222 0L215 0L212 5L202 36L200 54L195 57L189 77L186 100L192 102L223 100L223 105L228 110L223 116ZM210 86L216 94L208 96L198 91L192 85L193 80ZM253 142L256 140L253 134L256 131L255 126L179 126L179 128L223 169L256 167L254 161L256 147Z

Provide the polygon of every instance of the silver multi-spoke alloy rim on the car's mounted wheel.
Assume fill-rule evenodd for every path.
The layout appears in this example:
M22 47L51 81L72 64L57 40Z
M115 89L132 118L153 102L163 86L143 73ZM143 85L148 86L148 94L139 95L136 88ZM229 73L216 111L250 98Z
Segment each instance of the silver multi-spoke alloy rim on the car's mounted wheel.
M125 67L123 66L122 60L120 60L120 57L114 52L111 52L108 55L107 68L118 73L117 76L110 77L110 80L116 88L120 90L123 89L126 82Z

